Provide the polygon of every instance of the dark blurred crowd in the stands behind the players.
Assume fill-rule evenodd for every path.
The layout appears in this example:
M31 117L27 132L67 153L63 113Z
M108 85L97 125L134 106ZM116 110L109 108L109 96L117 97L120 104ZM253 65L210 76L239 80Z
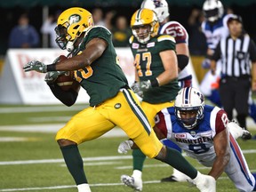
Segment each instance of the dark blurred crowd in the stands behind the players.
M8 0L0 2L0 58L9 48L52 48L54 44L55 21L60 12L68 7L81 6L92 12L96 25L103 25L113 33L113 43L116 47L128 46L131 36L130 20L132 13L140 8L142 0L94 0L94 1L60 1L60 0ZM191 56L204 56L206 44L201 32L204 20L202 5L204 0L167 0L170 8L170 20L176 20L183 25L189 35L189 51ZM226 12L234 12L242 16L244 28L256 42L256 0L223 0ZM13 45L12 34L17 27L20 16L26 18L29 25L35 28L38 40L35 44ZM26 21L25 21L26 22ZM52 34L53 32L53 34ZM19 34L19 32L17 32ZM52 34L52 35L51 35ZM53 36L53 37L51 37ZM37 38L37 37L36 37ZM15 47L16 46L16 47ZM1 67L1 65L0 65ZM0 68L1 70L1 68ZM200 80L200 77L199 77Z

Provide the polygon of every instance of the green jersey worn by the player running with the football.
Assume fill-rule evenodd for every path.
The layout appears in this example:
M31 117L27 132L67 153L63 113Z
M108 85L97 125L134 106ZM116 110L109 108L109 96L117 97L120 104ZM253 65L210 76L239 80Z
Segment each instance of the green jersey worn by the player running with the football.
M105 52L98 60L86 68L76 70L76 81L84 88L90 96L90 106L99 105L104 100L116 96L121 88L128 87L122 68L118 65L118 58L112 44L111 33L107 28L93 27L84 36L82 44L79 45L79 52L85 49L85 45L93 38L102 38L108 43Z

